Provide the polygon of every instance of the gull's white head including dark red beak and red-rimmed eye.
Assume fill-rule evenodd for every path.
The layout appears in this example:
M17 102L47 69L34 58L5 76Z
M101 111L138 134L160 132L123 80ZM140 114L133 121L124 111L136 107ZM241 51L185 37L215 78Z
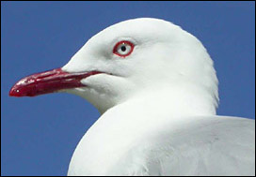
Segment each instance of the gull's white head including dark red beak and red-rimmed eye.
M104 112L147 90L179 86L200 88L216 107L216 72L200 41L171 22L140 18L104 29L67 65L25 77L9 95L68 92Z

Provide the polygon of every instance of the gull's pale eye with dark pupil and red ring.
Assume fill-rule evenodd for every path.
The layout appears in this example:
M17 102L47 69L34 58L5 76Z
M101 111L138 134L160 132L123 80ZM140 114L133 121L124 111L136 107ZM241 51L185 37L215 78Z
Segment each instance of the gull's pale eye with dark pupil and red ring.
M120 41L115 45L113 53L125 57L133 52L134 47L135 45L130 41Z

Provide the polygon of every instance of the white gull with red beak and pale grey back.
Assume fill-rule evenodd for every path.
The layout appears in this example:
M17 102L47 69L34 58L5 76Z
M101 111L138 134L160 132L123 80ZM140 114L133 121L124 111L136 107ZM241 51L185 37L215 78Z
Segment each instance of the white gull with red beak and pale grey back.
M255 175L255 121L216 115L213 61L171 22L111 25L67 65L25 77L9 96L56 92L82 96L101 113L68 175Z

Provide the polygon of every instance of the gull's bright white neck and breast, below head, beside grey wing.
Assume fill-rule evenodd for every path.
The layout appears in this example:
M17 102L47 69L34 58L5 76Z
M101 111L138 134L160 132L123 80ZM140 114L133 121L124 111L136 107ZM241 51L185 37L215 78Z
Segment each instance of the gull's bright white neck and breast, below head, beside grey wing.
M209 97L202 95L195 90L158 89L158 92L144 91L132 96L105 111L89 128L72 156L70 168L87 170L88 175L94 172L105 175L109 174L106 170L115 168L120 161L127 162L126 158L131 160L127 163L133 164L134 159L126 157L126 152L133 151L135 145L142 147L140 143L147 140L145 137L154 135L166 125L170 125L169 128L172 124L177 125L184 117L215 114Z

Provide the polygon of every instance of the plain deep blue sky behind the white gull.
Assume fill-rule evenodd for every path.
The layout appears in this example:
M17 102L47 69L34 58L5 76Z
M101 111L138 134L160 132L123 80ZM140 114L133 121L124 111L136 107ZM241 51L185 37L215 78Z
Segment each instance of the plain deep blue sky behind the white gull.
M198 37L216 66L217 113L255 118L254 2L1 2L1 175L66 175L99 117L68 94L9 97L26 75L64 66L105 27L154 17Z

